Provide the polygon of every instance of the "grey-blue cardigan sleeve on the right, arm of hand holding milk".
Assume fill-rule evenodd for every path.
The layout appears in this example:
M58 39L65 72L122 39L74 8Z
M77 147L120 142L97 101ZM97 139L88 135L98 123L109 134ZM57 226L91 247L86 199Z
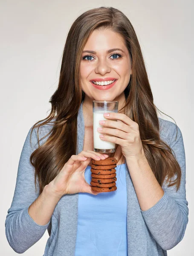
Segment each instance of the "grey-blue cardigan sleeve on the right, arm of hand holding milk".
M173 122L170 123L169 137L171 137L171 142L169 146L173 150L173 154L181 168L180 188L176 192L176 186L168 187L168 184L164 183L162 186L164 190L162 198L150 209L141 210L148 229L163 250L172 249L183 239L188 224L184 143L180 128ZM175 176L177 177L177 175ZM175 176L173 180L176 178Z

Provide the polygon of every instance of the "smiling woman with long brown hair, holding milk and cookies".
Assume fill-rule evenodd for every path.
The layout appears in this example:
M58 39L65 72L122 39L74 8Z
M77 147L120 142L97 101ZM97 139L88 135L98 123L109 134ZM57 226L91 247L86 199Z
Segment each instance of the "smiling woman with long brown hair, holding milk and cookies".
M113 87L94 86L103 79L115 80ZM99 131L116 143L115 153L93 151L93 100L119 101ZM75 20L50 102L21 153L6 217L10 246L23 253L47 229L44 256L167 255L188 223L182 134L157 116L136 33L122 12L101 7ZM91 161L107 157L118 159L117 190L94 192Z

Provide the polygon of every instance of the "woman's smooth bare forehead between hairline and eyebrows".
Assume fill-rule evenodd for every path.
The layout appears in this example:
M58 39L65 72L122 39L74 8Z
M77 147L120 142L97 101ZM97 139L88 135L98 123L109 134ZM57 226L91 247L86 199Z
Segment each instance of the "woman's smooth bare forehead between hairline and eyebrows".
M84 46L84 50L96 52L106 52L112 48L121 48L124 51L127 49L122 36L110 29L94 30Z

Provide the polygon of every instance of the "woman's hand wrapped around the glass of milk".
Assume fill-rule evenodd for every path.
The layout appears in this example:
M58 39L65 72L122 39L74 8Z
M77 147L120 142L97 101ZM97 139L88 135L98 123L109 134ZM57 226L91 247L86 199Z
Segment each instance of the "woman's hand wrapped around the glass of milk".
M98 131L104 135L101 140L110 141L119 144L122 148L122 154L125 158L142 157L144 150L142 141L139 134L139 125L132 121L128 116L123 113L109 113L110 116L104 117L107 119L117 119L118 121L105 120L102 131ZM113 129L114 128L114 129ZM109 136L108 134L112 135ZM99 135L101 137L101 135Z

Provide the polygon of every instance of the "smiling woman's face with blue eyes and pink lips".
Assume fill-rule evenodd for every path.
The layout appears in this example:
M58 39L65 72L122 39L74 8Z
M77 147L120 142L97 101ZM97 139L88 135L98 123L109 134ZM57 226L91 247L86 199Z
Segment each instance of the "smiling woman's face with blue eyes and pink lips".
M110 49L115 50L110 52ZM84 51L80 74L81 88L85 93L85 98L119 100L121 97L125 97L124 90L130 81L131 61L122 36L110 29L95 30L88 38ZM109 89L102 85L96 87L92 83L94 79L98 81L98 79L104 78L112 81L116 79L116 82Z

